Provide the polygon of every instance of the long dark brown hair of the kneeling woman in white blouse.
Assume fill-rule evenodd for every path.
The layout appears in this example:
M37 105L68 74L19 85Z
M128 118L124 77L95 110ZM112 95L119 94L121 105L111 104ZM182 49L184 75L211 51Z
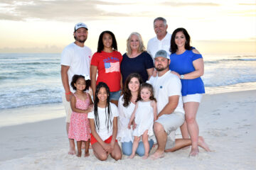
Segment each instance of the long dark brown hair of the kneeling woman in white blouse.
M129 81L131 81L132 78L137 78L139 80L139 85L143 83L142 77L137 73L131 73L127 77L125 83L124 83L124 96L123 96L123 106L127 107L131 103L132 93L129 89Z

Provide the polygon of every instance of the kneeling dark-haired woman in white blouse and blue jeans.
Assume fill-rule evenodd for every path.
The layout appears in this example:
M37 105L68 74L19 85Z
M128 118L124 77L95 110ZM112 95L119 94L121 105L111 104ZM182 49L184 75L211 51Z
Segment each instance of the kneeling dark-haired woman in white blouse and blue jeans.
M142 84L142 77L137 73L129 74L124 84L124 94L119 98L118 101L118 132L117 139L122 143L122 153L125 155L132 154L132 130L136 128L128 128L129 119L131 118L132 112L135 108L135 101L139 94L139 86ZM150 149L153 147L154 141L149 140ZM140 157L144 156L145 150L143 142L139 142L139 146L136 151Z

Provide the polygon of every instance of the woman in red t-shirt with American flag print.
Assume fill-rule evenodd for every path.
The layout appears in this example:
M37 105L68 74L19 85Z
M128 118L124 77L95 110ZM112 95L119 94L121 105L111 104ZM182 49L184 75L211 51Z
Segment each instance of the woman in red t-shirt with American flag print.
M114 34L109 30L103 31L90 67L93 98L95 98L96 85L102 81L110 87L110 102L118 104L122 89L121 62L122 55L117 52L117 40Z

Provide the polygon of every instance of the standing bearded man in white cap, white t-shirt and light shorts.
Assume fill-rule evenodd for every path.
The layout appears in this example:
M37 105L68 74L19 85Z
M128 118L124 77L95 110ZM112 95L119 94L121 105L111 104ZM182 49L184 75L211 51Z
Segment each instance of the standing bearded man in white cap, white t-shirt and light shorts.
M66 130L70 124L70 115L72 109L70 107L70 96L74 93L70 88L70 83L74 74L90 76L90 59L92 51L89 47L85 46L85 40L87 40L88 28L85 23L77 23L74 30L75 42L66 46L61 54L61 79L65 90L63 95L63 104L65 106L66 113ZM75 154L75 142L69 140L70 150L68 154Z

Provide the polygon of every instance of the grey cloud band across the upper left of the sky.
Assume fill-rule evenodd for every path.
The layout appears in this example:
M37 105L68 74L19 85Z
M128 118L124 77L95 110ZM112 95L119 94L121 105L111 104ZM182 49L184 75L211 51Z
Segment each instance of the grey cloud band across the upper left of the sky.
M129 16L125 13L106 12L98 5L117 6L131 3L113 3L94 0L21 0L0 1L4 10L0 12L0 20L26 21L27 19L74 21L80 19L97 20L114 16Z

